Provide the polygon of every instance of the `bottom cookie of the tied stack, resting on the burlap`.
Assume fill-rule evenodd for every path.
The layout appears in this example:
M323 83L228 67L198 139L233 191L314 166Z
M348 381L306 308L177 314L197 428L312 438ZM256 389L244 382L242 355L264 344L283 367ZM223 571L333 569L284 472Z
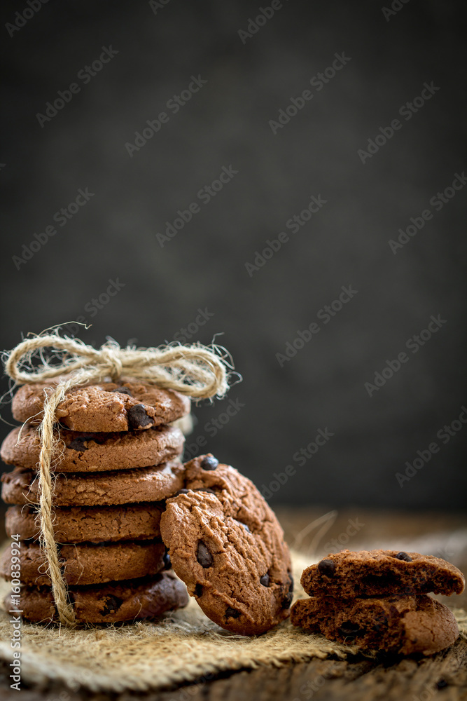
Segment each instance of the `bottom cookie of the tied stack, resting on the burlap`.
M68 594L78 623L152 619L188 604L185 585L169 572L126 582L70 587ZM10 595L5 599L5 606L7 611L15 608ZM31 622L58 622L48 587L22 587L21 609L22 618Z

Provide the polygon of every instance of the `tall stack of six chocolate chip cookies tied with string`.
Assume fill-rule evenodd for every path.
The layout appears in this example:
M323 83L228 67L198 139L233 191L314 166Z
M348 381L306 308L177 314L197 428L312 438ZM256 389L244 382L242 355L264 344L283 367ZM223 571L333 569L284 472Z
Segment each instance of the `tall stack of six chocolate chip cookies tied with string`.
M18 390L13 416L31 423L13 429L1 447L4 462L15 465L2 477L2 497L12 505L6 531L22 541L21 608L32 621L57 618L35 507L36 429L51 386ZM165 499L183 487L183 434L169 424L189 410L187 397L133 381L74 388L59 404L54 531L78 622L148 618L186 605L186 588L170 571L160 517ZM11 578L8 550L0 573Z

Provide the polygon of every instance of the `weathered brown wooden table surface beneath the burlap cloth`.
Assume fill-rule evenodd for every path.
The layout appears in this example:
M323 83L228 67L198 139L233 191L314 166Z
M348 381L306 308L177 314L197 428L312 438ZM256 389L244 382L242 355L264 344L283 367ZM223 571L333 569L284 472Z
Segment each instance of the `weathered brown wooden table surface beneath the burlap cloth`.
M288 543L310 560L330 550L390 547L444 557L467 571L467 518L464 515L277 508ZM437 597L467 610L467 593ZM18 698L9 688L6 665L0 667L0 697ZM328 658L223 674L208 683L193 683L158 693L77 693L50 683L23 688L22 701L452 701L467 700L467 643L456 643L431 658L402 658L382 653L376 660L356 655L345 661Z

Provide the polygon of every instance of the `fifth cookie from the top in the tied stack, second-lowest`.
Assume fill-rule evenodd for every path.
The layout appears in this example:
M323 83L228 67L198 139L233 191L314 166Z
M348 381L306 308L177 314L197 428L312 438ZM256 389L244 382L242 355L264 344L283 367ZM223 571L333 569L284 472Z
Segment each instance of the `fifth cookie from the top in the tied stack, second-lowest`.
M37 543L20 547L21 581L50 585L46 556ZM105 543L103 545L62 545L60 561L64 580L69 585L99 584L157 574L165 567L165 545L143 543ZM0 575L11 579L11 548L0 558ZM13 578L17 576L13 571Z

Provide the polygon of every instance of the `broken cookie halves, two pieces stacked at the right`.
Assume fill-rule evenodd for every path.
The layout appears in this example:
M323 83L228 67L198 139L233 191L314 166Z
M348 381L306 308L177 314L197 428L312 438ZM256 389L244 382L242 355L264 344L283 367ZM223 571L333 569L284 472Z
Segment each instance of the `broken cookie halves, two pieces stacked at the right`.
M438 557L396 550L343 550L307 567L309 599L292 607L293 625L330 640L405 655L433 655L459 636L452 612L428 596L461 594L459 569Z

